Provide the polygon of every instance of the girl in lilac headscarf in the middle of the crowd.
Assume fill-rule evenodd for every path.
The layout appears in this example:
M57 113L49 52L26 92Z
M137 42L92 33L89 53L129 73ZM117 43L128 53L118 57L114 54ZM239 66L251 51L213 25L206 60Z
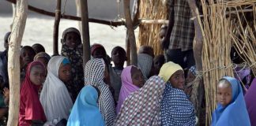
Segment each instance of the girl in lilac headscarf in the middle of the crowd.
M131 93L139 90L144 85L143 74L140 69L137 69L136 66L127 66L125 69L123 69L121 80L122 87L119 94L119 102L116 107L116 113L119 113L122 102L124 102Z

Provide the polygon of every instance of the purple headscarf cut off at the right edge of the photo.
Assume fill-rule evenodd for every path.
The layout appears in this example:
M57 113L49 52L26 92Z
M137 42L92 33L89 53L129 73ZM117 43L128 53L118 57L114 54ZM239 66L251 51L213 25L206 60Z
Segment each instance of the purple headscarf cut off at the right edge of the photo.
M256 78L251 83L247 94L244 96L245 101L247 103L247 111L250 117L250 124L252 126L256 126L256 102L255 102L255 95L256 95Z

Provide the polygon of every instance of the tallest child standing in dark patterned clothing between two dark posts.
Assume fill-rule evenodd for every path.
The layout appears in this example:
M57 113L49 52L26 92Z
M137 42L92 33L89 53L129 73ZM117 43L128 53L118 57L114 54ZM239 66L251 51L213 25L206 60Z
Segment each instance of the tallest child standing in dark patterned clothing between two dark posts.
M71 80L66 83L72 92L73 102L78 92L84 87L83 72L83 45L81 35L77 28L67 28L62 34L62 56L67 57L71 63Z

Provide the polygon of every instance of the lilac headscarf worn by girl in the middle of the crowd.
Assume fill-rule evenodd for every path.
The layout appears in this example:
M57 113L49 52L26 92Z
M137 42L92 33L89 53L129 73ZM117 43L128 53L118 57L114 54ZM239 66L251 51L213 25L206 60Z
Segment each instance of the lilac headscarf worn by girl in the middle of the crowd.
M131 68L136 66L127 66L125 69L122 70L121 73L121 80L122 80L122 87L119 94L119 102L116 106L116 113L119 113L119 110L121 109L122 102L126 100L126 98L133 93L134 91L139 90L140 88L135 86L133 84L133 80L131 78Z

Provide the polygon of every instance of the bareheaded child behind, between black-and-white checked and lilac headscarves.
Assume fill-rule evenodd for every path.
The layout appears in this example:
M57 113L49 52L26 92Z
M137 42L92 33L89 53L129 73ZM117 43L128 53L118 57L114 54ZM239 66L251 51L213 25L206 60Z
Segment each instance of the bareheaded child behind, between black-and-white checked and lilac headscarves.
M115 101L119 101L119 93L122 85L121 73L124 62L126 61L126 51L121 46L115 46L111 52L111 60L114 62L114 67L110 67L111 87L114 88Z

